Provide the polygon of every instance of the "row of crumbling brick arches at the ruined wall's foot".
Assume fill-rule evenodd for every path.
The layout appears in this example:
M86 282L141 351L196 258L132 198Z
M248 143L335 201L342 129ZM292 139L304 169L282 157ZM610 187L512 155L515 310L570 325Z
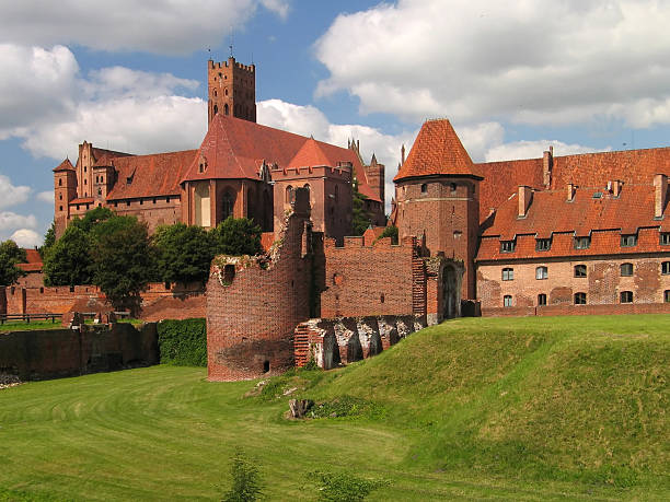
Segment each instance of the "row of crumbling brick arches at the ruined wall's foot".
M296 327L296 365L313 359L330 370L377 355L426 327L425 316L368 316L310 319Z

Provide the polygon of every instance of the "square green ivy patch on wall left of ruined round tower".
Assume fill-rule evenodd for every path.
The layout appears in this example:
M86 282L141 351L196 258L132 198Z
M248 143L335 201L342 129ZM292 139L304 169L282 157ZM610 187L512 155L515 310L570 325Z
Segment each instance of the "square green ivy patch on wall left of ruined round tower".
M207 366L205 319L161 320L158 334L162 364Z

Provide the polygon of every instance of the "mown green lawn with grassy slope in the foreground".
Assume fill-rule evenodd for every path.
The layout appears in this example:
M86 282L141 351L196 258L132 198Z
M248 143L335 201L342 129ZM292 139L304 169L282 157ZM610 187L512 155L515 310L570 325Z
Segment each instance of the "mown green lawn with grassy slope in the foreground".
M670 316L471 318L253 397L164 365L28 383L0 390L0 500L217 500L238 447L270 500L317 500L313 470L380 501L668 500L669 367ZM287 421L290 388L351 416Z

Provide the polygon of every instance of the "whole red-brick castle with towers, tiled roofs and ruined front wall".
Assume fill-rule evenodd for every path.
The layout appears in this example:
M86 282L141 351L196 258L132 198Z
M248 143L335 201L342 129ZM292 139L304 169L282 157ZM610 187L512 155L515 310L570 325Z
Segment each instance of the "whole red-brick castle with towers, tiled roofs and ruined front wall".
M267 256L212 264L211 380L356 361L460 315L670 313L669 148L474 163L449 120L427 120L394 177L394 245L374 155L257 125L254 66L210 60L208 87L198 149L83 142L54 180L57 235L95 207L150 230L263 227ZM372 221L361 237L348 236L354 179Z

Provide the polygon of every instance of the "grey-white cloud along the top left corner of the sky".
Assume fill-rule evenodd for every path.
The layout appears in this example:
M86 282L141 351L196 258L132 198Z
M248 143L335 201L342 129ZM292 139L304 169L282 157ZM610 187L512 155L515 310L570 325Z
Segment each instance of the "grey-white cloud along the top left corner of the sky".
M286 17L289 3L262 4ZM0 43L77 44L99 50L183 55L216 47L244 30L256 0L21 0L0 2Z

